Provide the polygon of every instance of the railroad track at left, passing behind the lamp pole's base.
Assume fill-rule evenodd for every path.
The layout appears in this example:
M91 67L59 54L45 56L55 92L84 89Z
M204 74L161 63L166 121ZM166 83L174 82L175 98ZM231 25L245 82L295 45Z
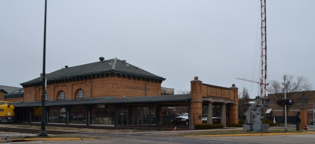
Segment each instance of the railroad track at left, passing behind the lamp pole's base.
M0 127L0 131L39 134L41 130ZM47 131L47 130L46 132L47 134L54 134L54 135L77 133L77 132L69 132L69 131Z

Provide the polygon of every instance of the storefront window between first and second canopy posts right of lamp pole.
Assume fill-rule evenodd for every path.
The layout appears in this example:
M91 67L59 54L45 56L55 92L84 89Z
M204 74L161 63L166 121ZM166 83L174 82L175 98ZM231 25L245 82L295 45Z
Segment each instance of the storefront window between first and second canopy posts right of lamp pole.
M66 109L62 106L49 109L49 123L66 123Z

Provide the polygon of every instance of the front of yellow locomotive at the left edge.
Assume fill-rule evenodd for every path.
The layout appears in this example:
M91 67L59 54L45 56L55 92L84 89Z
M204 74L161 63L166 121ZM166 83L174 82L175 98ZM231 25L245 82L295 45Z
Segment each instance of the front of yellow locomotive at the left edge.
M14 121L14 106L7 101L0 101L0 123Z

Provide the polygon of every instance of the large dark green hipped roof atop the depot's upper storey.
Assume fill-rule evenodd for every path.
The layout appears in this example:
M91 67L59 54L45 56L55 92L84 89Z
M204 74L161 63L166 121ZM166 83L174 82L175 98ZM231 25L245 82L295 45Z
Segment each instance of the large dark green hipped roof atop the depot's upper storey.
M62 79L74 78L74 77L106 74L110 72L122 74L122 75L146 77L146 78L151 78L151 79L157 79L160 81L165 80L165 78L163 77L154 75L150 72L147 72L143 69L135 67L117 58L93 62L93 63L74 66L74 67L62 68L60 70L46 74L46 78L47 78L47 82L49 82L49 81L62 80ZM34 84L34 83L41 83L41 82L42 82L42 77L37 77L28 82L21 83L21 85L23 86L27 84Z

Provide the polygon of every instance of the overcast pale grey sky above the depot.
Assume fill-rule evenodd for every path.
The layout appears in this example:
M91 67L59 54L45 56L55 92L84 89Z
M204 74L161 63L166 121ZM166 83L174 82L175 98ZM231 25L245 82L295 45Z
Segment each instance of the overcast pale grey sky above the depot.
M260 77L260 0L48 0L46 73L117 57L190 90L198 76L255 98ZM266 0L267 79L314 85L313 0ZM0 85L42 73L44 0L0 0Z

